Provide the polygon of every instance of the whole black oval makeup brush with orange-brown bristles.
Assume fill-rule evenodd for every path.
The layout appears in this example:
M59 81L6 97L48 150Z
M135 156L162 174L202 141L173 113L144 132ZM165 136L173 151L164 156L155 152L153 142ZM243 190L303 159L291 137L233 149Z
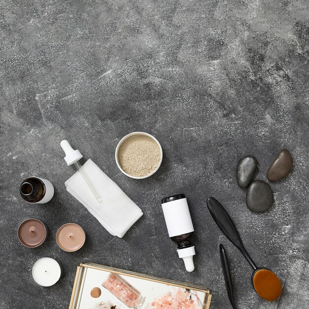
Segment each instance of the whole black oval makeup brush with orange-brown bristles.
M230 239L236 248L240 250L253 268L251 281L257 294L261 298L270 302L279 298L282 292L282 286L279 278L271 270L266 268L258 268L255 265L249 253L245 249L239 233L226 210L213 197L209 197L207 199L207 207L221 231Z

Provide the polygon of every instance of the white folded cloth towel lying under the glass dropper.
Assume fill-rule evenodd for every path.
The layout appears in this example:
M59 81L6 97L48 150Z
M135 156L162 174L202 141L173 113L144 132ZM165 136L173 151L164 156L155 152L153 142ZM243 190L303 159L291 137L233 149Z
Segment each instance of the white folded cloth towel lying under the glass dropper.
M112 235L122 237L143 215L142 210L92 160L83 165L102 197L99 203L84 178L77 171L65 185L67 191L81 202Z

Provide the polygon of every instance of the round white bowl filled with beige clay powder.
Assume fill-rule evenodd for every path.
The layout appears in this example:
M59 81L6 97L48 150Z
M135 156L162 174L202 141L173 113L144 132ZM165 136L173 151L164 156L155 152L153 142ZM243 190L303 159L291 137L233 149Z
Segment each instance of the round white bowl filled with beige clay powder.
M160 148L147 135L132 135L124 140L118 151L118 162L129 175L143 177L151 174L159 165Z

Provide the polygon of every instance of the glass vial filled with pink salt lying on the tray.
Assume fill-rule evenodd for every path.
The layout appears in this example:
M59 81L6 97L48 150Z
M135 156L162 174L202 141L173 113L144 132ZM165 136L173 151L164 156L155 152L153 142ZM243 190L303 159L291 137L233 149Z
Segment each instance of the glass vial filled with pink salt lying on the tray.
M118 274L110 273L102 285L129 308L139 306L143 300L140 292Z

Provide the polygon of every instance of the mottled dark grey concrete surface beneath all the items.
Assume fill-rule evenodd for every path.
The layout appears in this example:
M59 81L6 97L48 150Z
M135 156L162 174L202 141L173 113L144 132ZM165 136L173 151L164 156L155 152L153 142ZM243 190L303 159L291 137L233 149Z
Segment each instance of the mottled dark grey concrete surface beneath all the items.
M90 261L204 285L211 308L228 309L219 242L238 308L309 308L308 40L307 0L0 0L0 308L68 308L77 264ZM164 152L159 171L142 181L122 175L114 159L119 139L135 130L153 134ZM144 211L122 239L66 192L73 170L63 138ZM257 179L266 181L283 147L293 172L271 184L273 207L252 213L236 184L237 161L255 155ZM19 184L30 175L54 184L51 202L22 200ZM174 193L190 202L193 273L164 224L160 199ZM256 263L280 276L279 301L254 293L250 266L213 222L208 196L226 207ZM32 217L46 222L50 236L31 250L16 230ZM55 233L67 222L87 232L79 252L57 247ZM51 288L31 276L45 256L64 266Z

